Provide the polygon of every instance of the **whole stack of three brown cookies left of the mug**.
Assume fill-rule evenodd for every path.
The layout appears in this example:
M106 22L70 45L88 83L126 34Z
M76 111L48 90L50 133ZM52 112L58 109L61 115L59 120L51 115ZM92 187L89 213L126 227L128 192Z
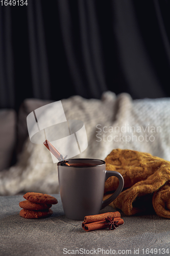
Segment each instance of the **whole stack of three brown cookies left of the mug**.
M58 201L55 197L50 195L29 192L26 193L23 198L26 201L19 203L19 206L23 208L19 215L26 219L40 219L46 218L53 214L52 204L57 204Z

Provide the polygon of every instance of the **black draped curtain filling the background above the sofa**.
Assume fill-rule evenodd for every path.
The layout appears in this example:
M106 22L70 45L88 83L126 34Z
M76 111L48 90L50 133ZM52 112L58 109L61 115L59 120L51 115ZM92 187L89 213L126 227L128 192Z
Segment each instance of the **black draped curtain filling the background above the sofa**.
M0 108L26 98L169 97L169 1L0 3Z

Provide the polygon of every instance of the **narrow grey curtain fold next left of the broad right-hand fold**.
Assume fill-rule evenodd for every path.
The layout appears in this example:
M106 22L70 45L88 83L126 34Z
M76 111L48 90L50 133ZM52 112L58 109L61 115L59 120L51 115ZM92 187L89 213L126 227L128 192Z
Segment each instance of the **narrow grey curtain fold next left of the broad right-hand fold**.
M80 36L82 59L90 94L99 98L107 90L100 48L100 36L94 2L79 1Z

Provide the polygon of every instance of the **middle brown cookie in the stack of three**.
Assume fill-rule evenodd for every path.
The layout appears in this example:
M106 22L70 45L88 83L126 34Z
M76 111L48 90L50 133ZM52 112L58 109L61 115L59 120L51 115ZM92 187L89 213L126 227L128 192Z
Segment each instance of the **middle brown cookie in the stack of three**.
M28 200L19 203L19 206L26 210L45 210L52 207L52 204L38 204Z

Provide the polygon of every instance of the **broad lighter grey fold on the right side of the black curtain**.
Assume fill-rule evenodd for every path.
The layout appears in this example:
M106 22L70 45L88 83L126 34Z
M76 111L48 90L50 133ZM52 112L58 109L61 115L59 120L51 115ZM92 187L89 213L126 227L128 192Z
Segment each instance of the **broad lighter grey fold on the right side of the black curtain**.
M132 96L138 98L165 97L156 71L144 46L138 29L132 1L112 1L115 22L113 24L121 65ZM154 90L153 90L154 88Z

